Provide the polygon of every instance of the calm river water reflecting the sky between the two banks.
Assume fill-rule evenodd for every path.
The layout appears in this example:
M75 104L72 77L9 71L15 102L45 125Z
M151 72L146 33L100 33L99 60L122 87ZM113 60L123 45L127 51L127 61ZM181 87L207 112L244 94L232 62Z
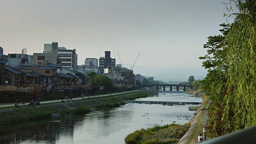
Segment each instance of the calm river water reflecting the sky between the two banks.
M185 93L160 93L137 100L202 102ZM141 128L185 124L193 116L189 106L129 103L96 110L85 116L65 115L42 121L0 126L0 144L124 144L125 137Z

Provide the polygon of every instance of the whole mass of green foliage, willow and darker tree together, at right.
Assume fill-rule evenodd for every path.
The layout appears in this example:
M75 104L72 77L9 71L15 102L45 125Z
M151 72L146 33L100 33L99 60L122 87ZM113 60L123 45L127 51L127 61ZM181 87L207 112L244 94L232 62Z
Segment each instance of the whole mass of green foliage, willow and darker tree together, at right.
M222 35L208 37L202 81L212 103L208 136L216 137L256 124L256 2L230 0L238 12L232 24L221 24ZM231 7L227 10L232 10Z

